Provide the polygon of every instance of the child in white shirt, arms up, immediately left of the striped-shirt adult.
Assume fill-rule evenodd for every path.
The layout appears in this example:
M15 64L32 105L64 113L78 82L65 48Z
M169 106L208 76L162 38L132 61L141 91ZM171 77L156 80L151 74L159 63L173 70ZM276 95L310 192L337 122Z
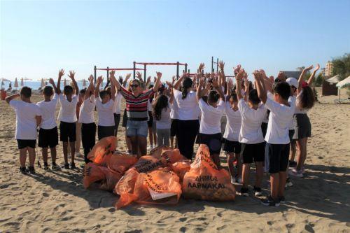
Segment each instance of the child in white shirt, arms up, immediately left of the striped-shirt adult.
M97 113L99 114L99 123L97 127L97 134L99 140L106 136L113 136L115 130L113 105L116 97L116 87L111 82L111 94L108 91L99 91L99 85L102 83L102 76L97 78L96 88L94 90L95 104Z

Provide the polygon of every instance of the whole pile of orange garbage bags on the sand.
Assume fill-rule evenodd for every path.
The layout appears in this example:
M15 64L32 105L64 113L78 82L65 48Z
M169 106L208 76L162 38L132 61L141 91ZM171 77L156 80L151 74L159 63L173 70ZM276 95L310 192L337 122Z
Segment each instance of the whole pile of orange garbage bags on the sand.
M216 167L206 145L200 145L193 162L167 146L139 158L115 150L115 136L96 143L87 155L92 162L85 165L83 184L120 195L117 209L133 202L177 204L181 195L216 202L235 199L230 174Z

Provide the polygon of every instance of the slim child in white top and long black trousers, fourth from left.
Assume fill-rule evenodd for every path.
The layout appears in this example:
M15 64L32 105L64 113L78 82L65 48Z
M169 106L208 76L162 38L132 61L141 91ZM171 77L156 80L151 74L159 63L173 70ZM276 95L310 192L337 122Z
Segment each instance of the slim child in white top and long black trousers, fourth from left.
M83 96L83 104L80 106L79 120L81 124L81 142L84 149L85 164L91 162L87 154L92 150L96 138L96 124L94 123L94 77L90 76L90 85Z

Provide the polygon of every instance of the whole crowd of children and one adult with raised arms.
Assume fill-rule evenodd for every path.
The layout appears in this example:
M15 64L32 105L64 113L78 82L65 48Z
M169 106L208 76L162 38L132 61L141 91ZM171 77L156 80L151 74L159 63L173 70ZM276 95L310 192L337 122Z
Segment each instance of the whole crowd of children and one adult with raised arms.
M49 169L48 148L52 169L60 169L56 164L59 141L63 146L63 169L76 169L80 141L85 163L89 163L87 154L95 144L96 132L98 140L116 136L122 120L126 153L141 157L147 149L171 146L192 160L195 143L206 144L212 160L221 168L223 149L231 182L242 184L240 194L248 196L250 167L254 163L254 195L262 196L262 177L267 172L271 193L262 199L262 204L278 206L285 202L285 188L293 185L288 176L302 177L304 173L307 139L311 136L307 111L315 101L310 85L319 65L307 81L304 76L313 66L305 68L298 80L287 78L283 72L274 78L262 69L255 70L253 82L240 65L233 69L235 78L225 76L223 62L219 67L218 73L204 73L204 64L200 64L197 73L183 73L177 80L174 76L167 82L161 82L160 72L153 82L151 76L144 82L139 72L137 78L129 81L131 74L117 80L115 71L110 71L106 87L100 87L102 76L96 83L90 76L90 84L83 90L78 89L74 71L69 71L71 85L64 86L63 92L61 69L57 84L50 79L50 85L43 87L43 101L36 104L31 102L31 89L22 87L20 93L6 97L16 113L20 172L35 173L37 138L44 169ZM15 100L16 97L20 100ZM125 99L123 119L122 99ZM58 102L59 134L55 118Z

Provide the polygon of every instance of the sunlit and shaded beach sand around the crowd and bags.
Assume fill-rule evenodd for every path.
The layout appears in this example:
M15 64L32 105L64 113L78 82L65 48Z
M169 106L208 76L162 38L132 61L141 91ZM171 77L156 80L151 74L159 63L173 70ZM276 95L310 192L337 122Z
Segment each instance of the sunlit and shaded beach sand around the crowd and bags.
M0 232L350 232L350 105L332 104L336 98L321 97L324 104L309 111L307 176L293 178L286 204L266 207L237 195L235 202L181 199L176 206L132 204L121 210L114 208L118 196L83 188L82 169L20 174L15 113L1 101ZM125 129L119 129L118 150L125 151ZM37 155L41 160L41 151ZM62 164L61 144L57 157ZM265 176L265 194L268 185Z

